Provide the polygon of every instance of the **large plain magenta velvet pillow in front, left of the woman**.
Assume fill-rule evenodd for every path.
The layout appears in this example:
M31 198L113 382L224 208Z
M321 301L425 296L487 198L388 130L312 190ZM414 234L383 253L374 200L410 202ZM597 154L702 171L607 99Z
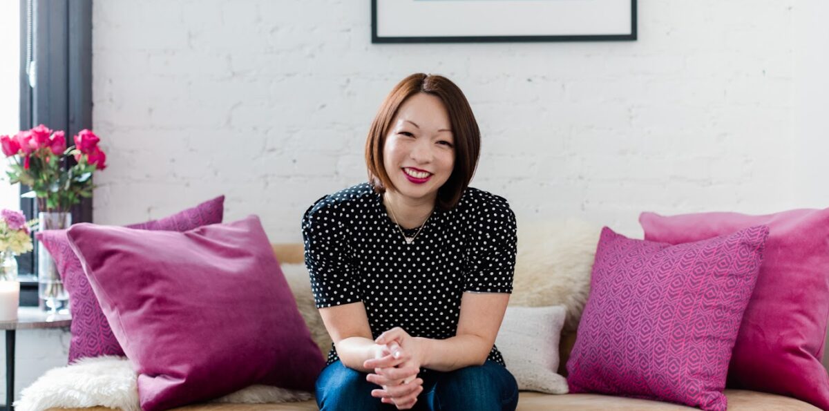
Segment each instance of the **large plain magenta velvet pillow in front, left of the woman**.
M183 233L79 224L68 235L138 371L143 411L250 384L313 390L322 354L255 215Z

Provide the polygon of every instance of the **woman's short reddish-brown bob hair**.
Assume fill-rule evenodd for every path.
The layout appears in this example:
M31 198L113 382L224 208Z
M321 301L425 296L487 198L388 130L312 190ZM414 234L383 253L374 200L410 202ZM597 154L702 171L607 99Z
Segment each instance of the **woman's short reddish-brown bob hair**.
M385 97L366 138L368 180L378 194L384 193L386 187L394 187L383 162L385 136L389 133L391 121L397 115L400 105L418 93L439 98L449 114L455 148L454 168L449 179L438 189L435 207L439 210L452 210L458 205L478 166L481 132L466 96L457 85L442 75L410 75L395 85Z

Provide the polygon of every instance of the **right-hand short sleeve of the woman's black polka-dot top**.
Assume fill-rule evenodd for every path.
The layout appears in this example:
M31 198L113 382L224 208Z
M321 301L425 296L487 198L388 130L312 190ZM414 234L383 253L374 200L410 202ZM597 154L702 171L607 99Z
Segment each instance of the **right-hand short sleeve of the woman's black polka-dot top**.
M472 216L467 228L469 248L463 291L512 293L517 252L515 213L507 200L492 196Z

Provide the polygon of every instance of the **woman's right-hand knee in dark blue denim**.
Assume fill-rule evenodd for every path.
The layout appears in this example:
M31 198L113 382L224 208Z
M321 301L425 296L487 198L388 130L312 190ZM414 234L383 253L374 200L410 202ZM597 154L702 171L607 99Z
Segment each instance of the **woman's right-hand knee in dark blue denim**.
M491 360L441 373L429 394L435 411L514 411L518 405L515 378Z

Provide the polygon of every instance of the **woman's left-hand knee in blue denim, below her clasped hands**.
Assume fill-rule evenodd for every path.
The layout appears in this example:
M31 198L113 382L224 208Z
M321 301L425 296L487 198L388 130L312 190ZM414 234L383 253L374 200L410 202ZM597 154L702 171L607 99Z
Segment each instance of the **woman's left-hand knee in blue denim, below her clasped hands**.
M340 361L333 362L317 379L317 406L320 411L388 410L387 404L371 396L371 390L376 388L380 387L366 381L366 373L351 370Z

